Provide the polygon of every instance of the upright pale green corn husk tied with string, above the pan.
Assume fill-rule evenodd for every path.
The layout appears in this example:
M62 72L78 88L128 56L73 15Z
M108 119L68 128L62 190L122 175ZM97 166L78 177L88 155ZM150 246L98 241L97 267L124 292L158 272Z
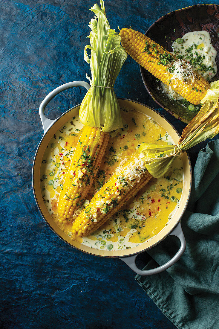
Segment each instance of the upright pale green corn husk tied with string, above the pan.
M103 0L100 3L101 9L97 4L90 9L96 17L88 25L90 45L85 46L84 59L90 64L90 85L109 88L91 87L81 103L79 117L85 126L110 132L123 126L113 86L128 55L120 45L121 37L109 27Z

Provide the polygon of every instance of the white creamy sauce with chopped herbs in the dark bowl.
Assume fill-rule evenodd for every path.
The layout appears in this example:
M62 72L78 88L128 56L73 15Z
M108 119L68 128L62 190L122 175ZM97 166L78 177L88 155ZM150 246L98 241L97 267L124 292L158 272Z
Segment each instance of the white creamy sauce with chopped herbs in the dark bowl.
M180 41L181 43L177 42ZM210 34L207 31L194 31L186 33L172 44L173 52L179 59L186 60L207 81L217 74L215 62L217 51L214 49ZM161 82L161 88L169 98L182 100L176 91Z

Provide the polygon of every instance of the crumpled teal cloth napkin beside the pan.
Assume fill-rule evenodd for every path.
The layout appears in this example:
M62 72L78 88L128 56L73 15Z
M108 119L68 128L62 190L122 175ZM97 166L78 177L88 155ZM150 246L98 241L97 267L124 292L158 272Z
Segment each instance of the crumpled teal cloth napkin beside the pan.
M135 279L159 309L183 329L219 328L219 140L199 152L182 217L186 250L166 271ZM148 250L144 269L167 262L179 247L171 237Z

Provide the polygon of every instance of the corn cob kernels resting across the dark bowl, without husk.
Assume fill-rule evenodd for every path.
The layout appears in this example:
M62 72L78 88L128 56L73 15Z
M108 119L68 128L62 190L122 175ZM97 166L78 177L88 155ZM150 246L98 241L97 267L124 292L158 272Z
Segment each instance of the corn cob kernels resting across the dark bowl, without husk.
M123 28L119 35L122 46L137 63L190 103L200 104L210 84L189 63L140 32Z

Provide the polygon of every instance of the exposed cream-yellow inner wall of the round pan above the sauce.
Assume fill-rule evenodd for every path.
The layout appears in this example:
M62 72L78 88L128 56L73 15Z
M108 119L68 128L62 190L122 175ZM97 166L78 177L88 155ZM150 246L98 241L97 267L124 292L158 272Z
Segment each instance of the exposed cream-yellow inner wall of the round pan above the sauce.
M158 122L172 137L175 144L179 141L179 135L174 129L174 127L160 114L152 110L146 105L126 100L126 99L118 99L120 107L125 107L130 110L136 110L139 112L142 112L150 117L152 117L155 121ZM131 248L131 249L125 249L125 250L97 250L97 249L91 249L88 246L85 246L77 241L71 240L71 238L65 234L53 221L52 217L49 215L45 204L42 199L42 194L40 190L40 165L42 162L42 157L45 152L45 149L50 141L50 139L53 137L53 135L63 126L69 119L72 118L72 116L78 114L80 105L74 107L73 109L69 110L65 114L63 114L60 118L58 118L54 124L50 127L50 129L46 132L46 134L43 136L34 160L33 165L33 190L35 199L37 202L37 206L41 212L41 215L47 222L47 224L50 226L50 228L66 243L72 245L73 247L80 249L86 253L93 254L96 256L102 256L102 257L124 257L133 255L139 252L142 252L144 250L147 250L154 245L158 244L161 240L163 240L168 234L176 227L176 225L179 223L184 210L187 206L189 194L190 194L190 188L191 188L191 164L188 158L187 153L182 154L182 163L183 163L183 174L184 174L184 185L182 190L182 196L179 204L179 208L173 215L172 219L168 222L168 224L153 238L151 238L148 241L145 241L138 245L137 247Z

